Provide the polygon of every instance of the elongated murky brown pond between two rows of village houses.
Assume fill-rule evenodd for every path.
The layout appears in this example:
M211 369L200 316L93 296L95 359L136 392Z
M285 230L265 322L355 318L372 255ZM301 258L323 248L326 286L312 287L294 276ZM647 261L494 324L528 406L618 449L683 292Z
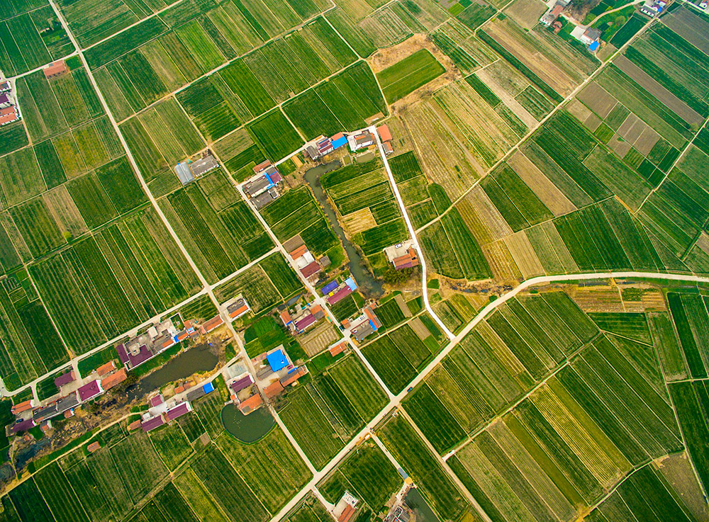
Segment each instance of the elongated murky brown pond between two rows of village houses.
M208 344L200 344L179 353L167 361L160 370L145 375L138 381L138 384L129 387L128 399L129 401L139 399L168 382L186 379L193 373L208 372L213 370L218 363L219 357L215 353L215 349Z

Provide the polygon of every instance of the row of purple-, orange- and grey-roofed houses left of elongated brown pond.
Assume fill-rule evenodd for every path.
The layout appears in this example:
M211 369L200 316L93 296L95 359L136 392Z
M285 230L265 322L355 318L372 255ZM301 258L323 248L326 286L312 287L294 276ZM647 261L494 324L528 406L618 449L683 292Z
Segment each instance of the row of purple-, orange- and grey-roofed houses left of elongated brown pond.
M50 419L63 415L69 418L74 415L74 409L83 402L95 399L112 387L120 384L126 378L125 368L117 368L116 363L99 366L86 378L78 378L73 369L58 375L54 383L59 392L44 404L36 404L34 399L15 404L12 413L16 416L15 423L8 426L8 434L27 431L35 426L42 429L51 427Z

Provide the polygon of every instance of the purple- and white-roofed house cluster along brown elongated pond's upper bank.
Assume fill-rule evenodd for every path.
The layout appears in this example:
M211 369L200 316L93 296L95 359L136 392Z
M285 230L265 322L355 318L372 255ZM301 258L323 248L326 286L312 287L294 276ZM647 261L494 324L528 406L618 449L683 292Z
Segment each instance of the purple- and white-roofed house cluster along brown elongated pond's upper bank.
M194 328L192 322L189 320L183 322L182 317L177 313L160 324L153 325L144 334L126 343L118 344L116 351L125 369L133 370L167 348L172 348L188 337L197 335L199 331Z

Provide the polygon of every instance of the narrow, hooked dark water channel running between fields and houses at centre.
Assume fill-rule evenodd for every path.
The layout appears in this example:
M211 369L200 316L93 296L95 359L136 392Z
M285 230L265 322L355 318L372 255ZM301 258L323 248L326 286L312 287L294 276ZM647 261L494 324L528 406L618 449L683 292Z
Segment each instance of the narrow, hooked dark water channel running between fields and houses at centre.
M320 206L325 211L325 215L328 217L330 225L332 225L335 230L335 234L337 234L337 237L339 237L340 241L342 241L342 245L345 246L347 258L350 259L350 273L352 273L354 280L357 281L359 290L366 297L381 297L381 295L384 295L384 288L382 288L381 283L374 278L372 272L367 269L366 261L362 259L362 255L359 254L359 251L354 247L350 240L347 239L347 236L345 236L345 231L340 226L340 222L337 221L335 210L332 205L330 205L330 201L323 190L323 186L320 185L320 176L339 169L340 166L342 166L342 164L340 164L340 161L337 160L330 161L330 163L323 165L318 165L306 171L305 180L313 189L313 194L315 194Z

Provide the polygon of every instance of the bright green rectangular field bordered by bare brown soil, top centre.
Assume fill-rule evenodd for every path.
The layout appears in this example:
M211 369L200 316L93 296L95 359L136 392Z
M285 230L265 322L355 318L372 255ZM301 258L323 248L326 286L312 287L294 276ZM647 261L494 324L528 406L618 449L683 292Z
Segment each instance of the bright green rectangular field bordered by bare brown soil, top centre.
M445 67L431 52L422 49L377 73L376 79L386 101L393 103L444 72Z

